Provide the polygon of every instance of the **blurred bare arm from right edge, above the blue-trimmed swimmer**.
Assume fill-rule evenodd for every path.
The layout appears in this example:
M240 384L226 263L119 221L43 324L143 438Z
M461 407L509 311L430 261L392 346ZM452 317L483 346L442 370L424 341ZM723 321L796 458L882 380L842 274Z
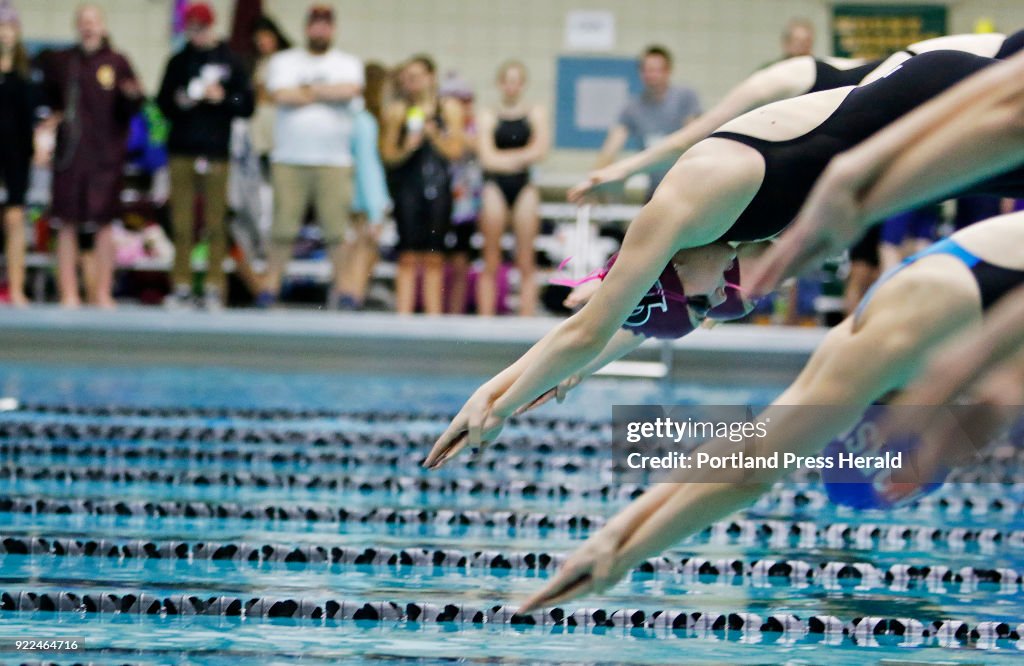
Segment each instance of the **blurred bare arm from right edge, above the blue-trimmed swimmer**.
M1024 161L1024 54L988 68L837 157L751 276L755 294L817 265L873 222Z

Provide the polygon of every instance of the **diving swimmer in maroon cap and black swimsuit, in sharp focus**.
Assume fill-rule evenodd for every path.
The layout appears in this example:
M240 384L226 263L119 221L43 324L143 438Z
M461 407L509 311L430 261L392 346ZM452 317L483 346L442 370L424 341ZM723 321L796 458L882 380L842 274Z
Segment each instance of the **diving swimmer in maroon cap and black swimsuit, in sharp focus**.
M996 61L925 53L865 86L758 109L699 142L630 224L593 299L477 389L424 465L494 441L516 410L645 337L680 337L708 317L742 315L737 255L788 224L836 154ZM1022 185L1024 178L996 178L971 191L1017 196Z

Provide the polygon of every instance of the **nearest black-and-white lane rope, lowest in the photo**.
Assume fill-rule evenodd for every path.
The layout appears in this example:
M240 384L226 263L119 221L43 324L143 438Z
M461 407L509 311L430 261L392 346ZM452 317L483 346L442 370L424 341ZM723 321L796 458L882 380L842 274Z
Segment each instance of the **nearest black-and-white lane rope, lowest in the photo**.
M716 637L733 634L772 634L775 639L821 640L825 636L848 637L856 644L877 646L880 636L898 636L903 644L928 643L976 648L997 648L999 642L1016 643L1024 634L1024 624L984 621L970 624L954 619L860 617L842 620L836 616L792 614L694 612L638 609L563 609L519 615L510 606L464 603L361 601L348 599L289 598L273 596L201 596L154 594L144 590L111 592L34 591L8 589L0 592L0 611L55 615L159 615L225 616L247 618L294 618L324 624L364 621L419 624L519 625L552 629L583 628L664 630L667 636Z

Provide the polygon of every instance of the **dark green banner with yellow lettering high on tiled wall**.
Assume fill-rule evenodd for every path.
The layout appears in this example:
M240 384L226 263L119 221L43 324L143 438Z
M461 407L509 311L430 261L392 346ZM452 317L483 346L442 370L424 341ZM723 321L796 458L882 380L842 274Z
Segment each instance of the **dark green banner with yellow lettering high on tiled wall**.
M923 39L946 34L943 5L838 4L833 8L833 52L885 57Z

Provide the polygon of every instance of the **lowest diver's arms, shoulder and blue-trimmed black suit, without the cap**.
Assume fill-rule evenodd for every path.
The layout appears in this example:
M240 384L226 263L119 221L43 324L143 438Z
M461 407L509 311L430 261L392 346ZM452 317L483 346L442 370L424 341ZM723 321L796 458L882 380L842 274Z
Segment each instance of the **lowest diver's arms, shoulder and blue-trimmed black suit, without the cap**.
M992 303L1024 285L1021 247L1024 213L994 217L880 279L858 310L829 331L796 381L756 417L771 422L760 453L813 456L854 425L872 401L912 379L937 345L977 327ZM1021 393L1018 386L1018 401ZM833 409L819 409L809 419L790 409L801 405ZM728 449L727 441L712 441L694 455ZM640 561L752 504L784 473L769 469L756 482L687 483L706 472L676 472L673 482L651 487L588 539L520 612L607 589Z

